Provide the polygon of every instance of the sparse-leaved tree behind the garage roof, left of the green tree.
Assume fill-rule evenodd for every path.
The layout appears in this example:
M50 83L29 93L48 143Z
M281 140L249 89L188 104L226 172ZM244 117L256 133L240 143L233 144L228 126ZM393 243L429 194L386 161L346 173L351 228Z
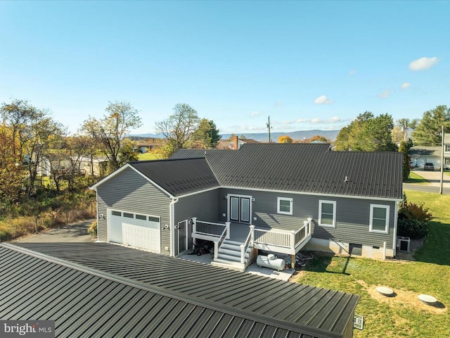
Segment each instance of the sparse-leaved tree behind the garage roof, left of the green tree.
M166 157L178 149L186 148L189 139L197 130L200 119L198 113L188 104L176 104L174 113L166 120L155 123L155 130L167 139L164 146Z

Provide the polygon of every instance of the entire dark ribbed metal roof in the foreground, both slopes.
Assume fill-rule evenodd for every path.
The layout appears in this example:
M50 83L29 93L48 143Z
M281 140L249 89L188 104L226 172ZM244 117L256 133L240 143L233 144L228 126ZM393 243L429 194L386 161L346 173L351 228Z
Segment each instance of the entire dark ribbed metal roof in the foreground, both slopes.
M141 320L162 323L158 330L176 330L176 325L191 323L189 330L200 330L201 326L204 331L200 331L205 333L221 325L229 330L224 337L345 337L359 299L354 294L238 273L113 244L3 245L0 266L6 274L1 274L0 283L7 283L2 289L6 303L0 305L0 318L4 319L54 318L57 327L66 327L67 320L72 323L77 316L84 316L79 313L81 308L93 306L88 317L95 320L85 324L77 321L74 324L79 326L77 330L87 330L98 320L108 322L106 318L114 322L112 318L124 315L134 318L131 326ZM32 251L18 252L27 249ZM67 301L64 295L68 296ZM161 300L155 301L154 297ZM138 302L141 298L148 303ZM134 303L141 310L137 311ZM79 311L72 309L79 304L82 305ZM52 312L53 306L56 310ZM157 310L153 311L154 308ZM74 317L65 318L65 311ZM159 317L161 313L164 318ZM205 319L204 313L213 319ZM165 327L171 320L180 321L180 316L183 323ZM108 330L118 330L115 323L103 325ZM95 330L108 332L101 327ZM197 337L208 334L197 333Z

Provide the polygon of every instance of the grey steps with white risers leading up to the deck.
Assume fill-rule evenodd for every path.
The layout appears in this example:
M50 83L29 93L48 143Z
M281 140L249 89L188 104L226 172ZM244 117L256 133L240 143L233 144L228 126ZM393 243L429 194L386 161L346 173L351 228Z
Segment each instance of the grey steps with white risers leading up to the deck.
M235 242L230 239L225 239L224 243L222 243L219 248L217 258L214 258L211 265L244 272L249 263L251 249L248 248L245 252L245 262L240 263L240 246L242 244L242 242Z

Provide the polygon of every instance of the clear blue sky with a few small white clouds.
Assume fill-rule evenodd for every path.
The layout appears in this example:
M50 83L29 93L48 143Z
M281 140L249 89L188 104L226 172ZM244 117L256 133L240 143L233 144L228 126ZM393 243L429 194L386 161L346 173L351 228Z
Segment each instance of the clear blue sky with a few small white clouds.
M0 1L0 103L75 132L129 101L153 133L189 104L223 133L421 118L450 98L450 1Z

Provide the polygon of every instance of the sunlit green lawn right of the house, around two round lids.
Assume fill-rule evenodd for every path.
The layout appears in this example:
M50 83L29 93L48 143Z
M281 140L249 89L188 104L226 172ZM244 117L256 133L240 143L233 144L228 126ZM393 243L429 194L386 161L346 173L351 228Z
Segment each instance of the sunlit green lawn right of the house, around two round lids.
M354 337L450 337L450 205L449 195L405 191L408 201L424 203L435 215L416 261L378 261L316 253L297 282L361 296L355 313L364 316L364 330ZM395 296L375 288L390 287ZM427 306L417 299L431 294Z

